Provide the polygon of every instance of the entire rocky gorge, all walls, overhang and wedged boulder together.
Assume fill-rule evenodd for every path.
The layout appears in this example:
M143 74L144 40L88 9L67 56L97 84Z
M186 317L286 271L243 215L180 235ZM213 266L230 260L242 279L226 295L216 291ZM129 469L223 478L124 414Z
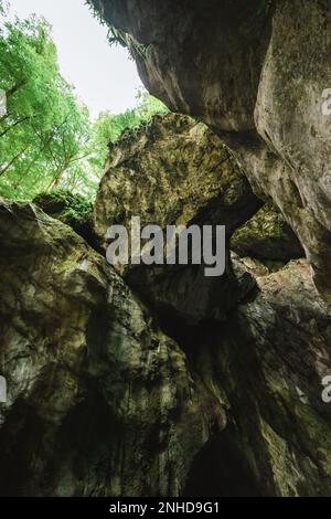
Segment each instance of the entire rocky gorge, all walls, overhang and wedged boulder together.
M0 495L331 496L329 1L88 3L171 112L93 204L0 198ZM134 216L225 226L223 275L110 265Z

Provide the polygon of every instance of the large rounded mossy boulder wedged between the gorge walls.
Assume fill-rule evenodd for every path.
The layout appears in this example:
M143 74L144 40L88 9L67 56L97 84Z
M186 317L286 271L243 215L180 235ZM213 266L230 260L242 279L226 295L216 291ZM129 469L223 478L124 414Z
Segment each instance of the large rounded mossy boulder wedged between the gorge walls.
M221 139L185 116L156 116L111 147L95 205L95 227L106 248L110 225L130 233L132 216L147 224L225 225L226 241L261 205ZM223 253L224 251L222 251ZM131 287L163 316L186 324L224 319L254 286L226 274L206 277L204 265L116 265ZM189 254L190 256L190 254Z

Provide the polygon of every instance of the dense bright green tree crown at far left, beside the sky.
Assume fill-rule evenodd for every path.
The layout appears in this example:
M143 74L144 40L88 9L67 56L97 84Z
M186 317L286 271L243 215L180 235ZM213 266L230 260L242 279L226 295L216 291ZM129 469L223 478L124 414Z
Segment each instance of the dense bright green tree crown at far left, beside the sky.
M0 189L32 198L56 188L89 137L86 108L61 76L45 20L6 21L0 28Z

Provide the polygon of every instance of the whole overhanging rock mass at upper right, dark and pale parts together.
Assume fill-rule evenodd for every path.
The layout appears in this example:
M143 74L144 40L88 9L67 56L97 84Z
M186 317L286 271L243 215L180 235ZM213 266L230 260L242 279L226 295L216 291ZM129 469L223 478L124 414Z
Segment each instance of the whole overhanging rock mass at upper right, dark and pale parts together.
M299 236L331 301L327 0L90 0L147 88L213 127ZM148 15L147 15L148 13Z

